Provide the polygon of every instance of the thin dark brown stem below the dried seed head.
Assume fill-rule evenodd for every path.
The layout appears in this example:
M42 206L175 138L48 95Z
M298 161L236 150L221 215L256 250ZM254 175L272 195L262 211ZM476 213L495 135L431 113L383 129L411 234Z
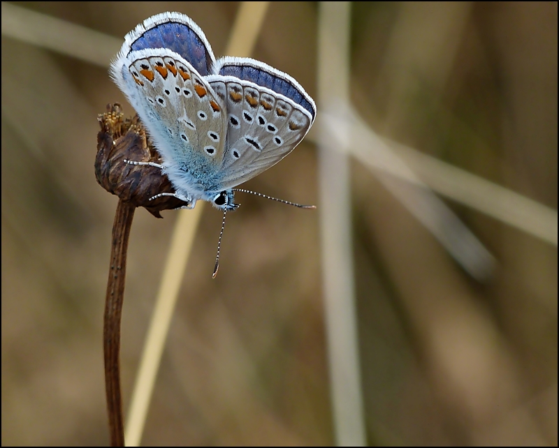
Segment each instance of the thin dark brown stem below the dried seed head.
M109 417L110 445L124 447L122 395L120 392L120 320L126 280L126 251L134 207L119 200L112 225L110 269L107 282L105 316L103 321L103 350L105 353L105 388Z

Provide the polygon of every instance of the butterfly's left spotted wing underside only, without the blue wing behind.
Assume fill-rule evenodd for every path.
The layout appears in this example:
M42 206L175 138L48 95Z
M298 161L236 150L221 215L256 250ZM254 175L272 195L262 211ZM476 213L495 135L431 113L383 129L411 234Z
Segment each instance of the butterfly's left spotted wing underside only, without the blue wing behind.
M226 112L189 62L162 48L139 50L115 61L111 71L166 165L217 171L224 156Z

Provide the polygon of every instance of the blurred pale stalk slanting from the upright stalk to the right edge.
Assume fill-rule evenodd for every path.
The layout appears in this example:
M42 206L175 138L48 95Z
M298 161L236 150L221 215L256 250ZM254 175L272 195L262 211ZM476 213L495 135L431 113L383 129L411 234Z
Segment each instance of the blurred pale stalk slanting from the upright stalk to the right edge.
M332 114L332 117L328 112L321 112L317 120L317 128L326 126L326 128L332 129L333 124L336 124L337 128L340 120L346 120L347 126L354 126L353 132L359 136L357 137L359 144L350 145L347 147L347 151L375 175L377 172L384 172L409 184L422 188L428 186L435 193L557 247L557 210L479 177L477 174L428 156L417 149L377 135L359 117L354 108L350 108L347 114L340 114L338 111L338 113ZM356 120L352 121L349 117L355 117ZM320 121L328 121L328 123L321 125ZM338 144L341 144L335 134L332 137ZM307 139L315 144L319 144L319 138L317 131L312 131L307 136ZM368 146L367 142L373 143ZM379 157L377 149L372 149L372 147L377 147L377 149L382 147L382 151L393 151L394 154L389 156L390 160L399 159L399 161L393 163L386 157ZM405 166L405 169L402 169L402 166ZM444 207L450 211L448 207Z

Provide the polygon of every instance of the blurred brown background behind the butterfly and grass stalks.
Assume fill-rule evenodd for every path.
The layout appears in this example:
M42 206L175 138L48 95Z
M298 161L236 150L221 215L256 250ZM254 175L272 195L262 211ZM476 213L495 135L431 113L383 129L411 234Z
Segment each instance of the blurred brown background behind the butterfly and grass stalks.
M25 43L8 26L32 31L34 22L17 22L27 16L6 6L97 31L99 40L61 36L77 45L74 56ZM166 10L189 15L219 57L238 3L2 8L1 442L107 445L103 300L117 198L96 183L93 163L97 114L115 102L134 112L106 67L124 34ZM315 99L318 17L319 3L271 3L252 54ZM557 24L555 2L352 3L351 103L382 137L537 202L556 234ZM96 52L98 63L89 58ZM317 135L243 187L320 207ZM237 198L215 280L222 214L203 211L143 445L335 442L321 214ZM366 442L557 445L557 239L443 200L494 257L483 278L351 160ZM131 231L125 412L176 213L163 216L140 209Z

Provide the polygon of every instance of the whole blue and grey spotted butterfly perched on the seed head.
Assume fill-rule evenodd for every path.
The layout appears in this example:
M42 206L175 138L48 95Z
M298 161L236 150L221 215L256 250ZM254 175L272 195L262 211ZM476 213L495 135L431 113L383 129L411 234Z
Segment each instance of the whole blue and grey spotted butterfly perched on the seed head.
M292 77L254 59L216 60L180 13L155 15L128 33L110 73L187 208L205 200L235 209L233 188L289 154L316 115Z

